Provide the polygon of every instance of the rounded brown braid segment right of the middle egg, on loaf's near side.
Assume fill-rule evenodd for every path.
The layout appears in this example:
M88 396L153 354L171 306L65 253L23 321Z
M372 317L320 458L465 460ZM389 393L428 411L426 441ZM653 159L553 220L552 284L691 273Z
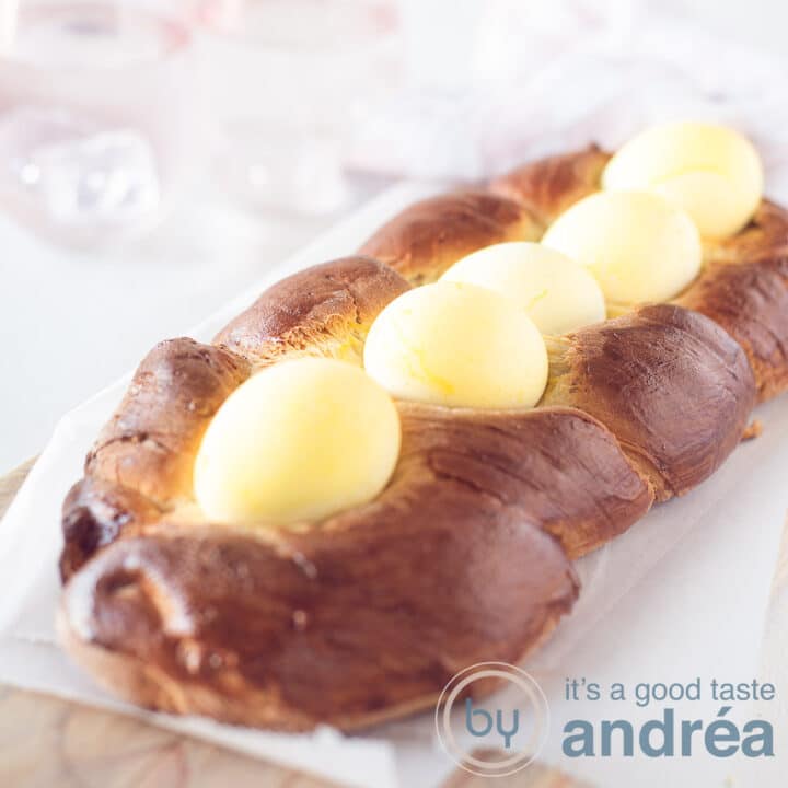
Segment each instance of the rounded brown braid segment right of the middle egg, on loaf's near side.
M755 381L741 346L716 323L656 304L551 343L542 402L595 416L665 500L696 487L735 448Z

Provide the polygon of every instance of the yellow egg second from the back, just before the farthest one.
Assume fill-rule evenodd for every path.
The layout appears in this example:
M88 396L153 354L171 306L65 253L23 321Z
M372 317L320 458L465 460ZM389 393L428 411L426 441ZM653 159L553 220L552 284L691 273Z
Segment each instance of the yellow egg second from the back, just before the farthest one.
M558 217L542 243L588 266L615 306L667 301L700 270L692 219L646 192L586 197Z

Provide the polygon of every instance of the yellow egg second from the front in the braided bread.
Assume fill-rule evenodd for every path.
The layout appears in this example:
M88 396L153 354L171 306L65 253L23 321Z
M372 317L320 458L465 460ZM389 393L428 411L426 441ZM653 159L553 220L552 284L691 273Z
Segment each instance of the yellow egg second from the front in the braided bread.
M525 311L451 281L392 301L372 324L364 367L395 397L450 407L531 407L547 383L544 339Z

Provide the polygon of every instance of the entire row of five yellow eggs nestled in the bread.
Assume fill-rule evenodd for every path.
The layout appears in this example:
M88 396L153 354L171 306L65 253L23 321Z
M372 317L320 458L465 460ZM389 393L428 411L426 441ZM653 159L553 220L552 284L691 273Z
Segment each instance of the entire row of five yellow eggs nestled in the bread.
M700 270L702 236L726 237L752 218L763 169L730 129L672 124L625 144L602 187L542 243L488 246L391 302L371 326L363 370L301 358L240 386L195 462L206 517L277 525L372 500L399 455L392 397L534 406L548 374L543 335L681 292Z

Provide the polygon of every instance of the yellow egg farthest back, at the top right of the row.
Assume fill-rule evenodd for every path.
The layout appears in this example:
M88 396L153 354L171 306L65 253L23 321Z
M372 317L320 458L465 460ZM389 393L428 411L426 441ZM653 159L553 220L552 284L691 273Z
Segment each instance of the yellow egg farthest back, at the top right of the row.
M725 237L752 218L764 185L757 151L723 126L656 126L627 142L607 163L605 189L649 189L686 210L705 237Z

